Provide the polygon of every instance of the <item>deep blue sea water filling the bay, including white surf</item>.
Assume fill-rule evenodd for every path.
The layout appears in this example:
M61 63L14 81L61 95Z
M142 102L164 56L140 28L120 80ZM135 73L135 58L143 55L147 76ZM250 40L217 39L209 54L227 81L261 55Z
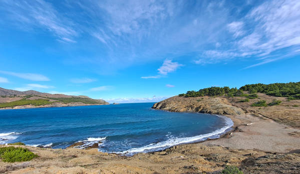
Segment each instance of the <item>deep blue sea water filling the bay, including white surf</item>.
M100 151L132 155L217 138L231 129L224 116L151 109L154 103L0 110L0 144L66 148L101 141Z

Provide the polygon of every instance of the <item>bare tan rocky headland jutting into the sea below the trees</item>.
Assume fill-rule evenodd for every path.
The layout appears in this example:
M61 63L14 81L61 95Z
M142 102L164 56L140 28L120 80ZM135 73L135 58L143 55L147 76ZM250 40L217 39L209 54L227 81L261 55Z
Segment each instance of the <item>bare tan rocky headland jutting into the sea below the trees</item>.
M227 99L221 97L179 97L174 96L155 103L152 108L170 112L201 112L209 114L240 115L244 111L232 106Z

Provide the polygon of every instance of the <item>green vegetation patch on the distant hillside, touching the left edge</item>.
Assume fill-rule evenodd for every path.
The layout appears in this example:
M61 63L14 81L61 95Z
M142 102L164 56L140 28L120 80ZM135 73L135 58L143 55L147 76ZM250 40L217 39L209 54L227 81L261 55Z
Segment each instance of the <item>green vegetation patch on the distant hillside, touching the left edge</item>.
M17 101L12 101L8 103L0 103L0 108L4 107L15 107L15 106L23 106L23 105L35 105L35 106L40 106L40 105L46 105L46 104L51 104L54 102L49 101L49 99L36 99L36 100L27 100L27 99L21 99Z

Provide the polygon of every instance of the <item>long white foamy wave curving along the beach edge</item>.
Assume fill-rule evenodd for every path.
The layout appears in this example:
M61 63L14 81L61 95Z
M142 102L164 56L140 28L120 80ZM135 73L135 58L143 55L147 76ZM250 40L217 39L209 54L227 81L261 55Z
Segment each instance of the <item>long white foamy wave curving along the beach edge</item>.
M158 151L158 150L163 150L166 148L169 148L174 145L179 145L179 144L186 144L186 143L192 143L192 142L199 142L199 141L204 141L207 138L218 138L222 133L225 133L228 129L233 126L233 122L230 118L225 117L225 116L220 116L217 115L221 118L224 119L225 121L225 126L222 128L219 128L211 133L207 134L201 134L197 136L192 136L192 137L172 137L166 141L158 142L158 143L151 143L142 147L137 147L137 148L131 148L129 150L124 150L124 151L119 151L119 152L113 152L113 153L119 153L119 154L124 154L127 156L132 156L135 153L139 152L151 152L151 151Z

